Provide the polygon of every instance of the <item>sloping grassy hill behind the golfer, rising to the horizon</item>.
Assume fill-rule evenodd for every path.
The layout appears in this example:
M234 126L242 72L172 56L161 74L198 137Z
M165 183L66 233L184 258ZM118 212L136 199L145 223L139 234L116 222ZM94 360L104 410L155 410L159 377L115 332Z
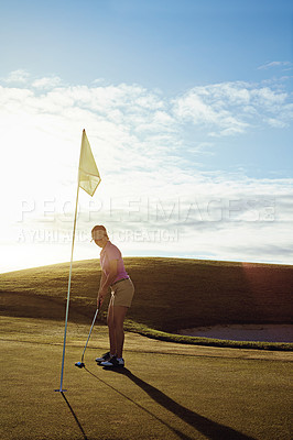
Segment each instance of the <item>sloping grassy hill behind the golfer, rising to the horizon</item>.
M175 332L292 320L293 266L159 257L128 257L124 263L135 285L129 328ZM64 320L68 270L64 263L1 274L0 314ZM90 322L99 277L97 260L74 263L70 321Z

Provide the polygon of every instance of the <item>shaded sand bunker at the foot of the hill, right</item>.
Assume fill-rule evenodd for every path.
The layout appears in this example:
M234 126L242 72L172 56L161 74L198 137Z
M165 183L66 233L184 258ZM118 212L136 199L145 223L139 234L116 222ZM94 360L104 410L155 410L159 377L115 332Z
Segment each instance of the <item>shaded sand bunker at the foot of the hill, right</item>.
M230 341L293 342L291 324L231 324L183 329L178 334Z

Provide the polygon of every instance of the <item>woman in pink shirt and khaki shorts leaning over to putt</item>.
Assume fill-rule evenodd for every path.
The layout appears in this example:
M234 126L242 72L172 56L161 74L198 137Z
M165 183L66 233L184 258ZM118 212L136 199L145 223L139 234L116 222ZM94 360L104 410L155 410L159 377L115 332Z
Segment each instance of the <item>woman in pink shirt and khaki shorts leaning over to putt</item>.
M101 248L100 266L101 278L97 298L97 306L100 308L109 287L111 298L108 307L107 323L109 328L110 351L97 358L102 366L124 366L122 358L124 330L123 322L128 308L134 294L133 284L128 276L121 252L108 238L104 226L96 226L91 230L91 238Z

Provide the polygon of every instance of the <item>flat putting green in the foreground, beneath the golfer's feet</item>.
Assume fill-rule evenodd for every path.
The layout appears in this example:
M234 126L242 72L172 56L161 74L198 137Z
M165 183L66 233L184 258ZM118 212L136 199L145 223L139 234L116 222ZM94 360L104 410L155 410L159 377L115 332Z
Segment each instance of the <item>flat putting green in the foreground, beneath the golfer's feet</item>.
M126 369L98 367L107 329L72 323L59 385L61 322L3 318L1 439L290 440L292 354L181 345L127 333ZM43 342L42 342L43 341Z

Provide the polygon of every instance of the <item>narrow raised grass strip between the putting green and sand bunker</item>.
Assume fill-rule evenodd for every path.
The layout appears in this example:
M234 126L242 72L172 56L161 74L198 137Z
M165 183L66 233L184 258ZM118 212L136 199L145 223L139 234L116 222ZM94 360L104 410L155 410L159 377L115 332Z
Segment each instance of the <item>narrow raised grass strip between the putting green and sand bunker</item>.
M151 329L141 323L137 323L129 319L126 320L124 329L133 333L139 333L146 338L158 339L160 341L176 342L191 345L207 345L230 349L252 349L252 350L271 350L271 351L293 351L293 343L289 342L257 342L257 341L229 341L226 339L211 339L199 337L187 337L182 334L167 333Z

